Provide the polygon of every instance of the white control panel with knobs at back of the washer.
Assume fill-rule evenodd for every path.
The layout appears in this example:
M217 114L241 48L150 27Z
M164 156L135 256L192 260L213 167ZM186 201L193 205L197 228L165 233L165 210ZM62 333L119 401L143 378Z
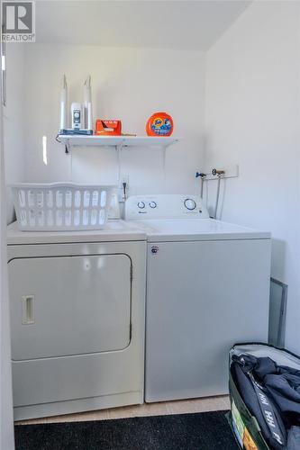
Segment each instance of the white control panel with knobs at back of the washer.
M186 218L209 218L203 200L197 195L132 195L125 202L125 220Z

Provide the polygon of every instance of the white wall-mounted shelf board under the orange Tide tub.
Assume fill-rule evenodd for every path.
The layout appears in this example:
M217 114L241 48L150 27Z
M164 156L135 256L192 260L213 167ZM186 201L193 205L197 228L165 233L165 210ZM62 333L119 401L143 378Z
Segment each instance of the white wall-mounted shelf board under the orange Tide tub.
M67 153L72 147L114 147L122 149L123 147L163 147L175 144L180 138L173 136L80 136L59 134L58 138L61 144L64 144Z

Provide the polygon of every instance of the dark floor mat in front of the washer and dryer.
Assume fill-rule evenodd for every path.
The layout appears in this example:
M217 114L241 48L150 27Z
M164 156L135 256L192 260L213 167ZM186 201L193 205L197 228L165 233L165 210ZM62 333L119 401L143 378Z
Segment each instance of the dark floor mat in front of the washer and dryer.
M226 411L15 426L16 450L236 450Z

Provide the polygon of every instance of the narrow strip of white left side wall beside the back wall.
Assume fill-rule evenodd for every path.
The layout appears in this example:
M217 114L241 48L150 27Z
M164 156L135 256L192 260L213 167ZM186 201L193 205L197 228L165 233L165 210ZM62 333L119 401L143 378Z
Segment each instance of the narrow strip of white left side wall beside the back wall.
M4 108L6 184L20 183L25 176L24 153L24 46L6 44L6 107ZM14 220L11 189L7 192L7 223Z

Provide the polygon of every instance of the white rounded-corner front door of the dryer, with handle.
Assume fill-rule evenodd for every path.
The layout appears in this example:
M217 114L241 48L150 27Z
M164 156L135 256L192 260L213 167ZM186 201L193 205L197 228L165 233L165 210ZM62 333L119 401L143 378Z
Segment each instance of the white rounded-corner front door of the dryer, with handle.
M17 258L8 267L14 360L129 345L130 257Z

